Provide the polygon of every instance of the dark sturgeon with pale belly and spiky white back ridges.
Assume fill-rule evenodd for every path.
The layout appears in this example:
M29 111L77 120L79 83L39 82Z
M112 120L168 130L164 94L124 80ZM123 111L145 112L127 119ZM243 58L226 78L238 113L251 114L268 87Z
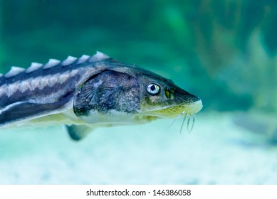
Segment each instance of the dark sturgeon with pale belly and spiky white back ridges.
M194 115L202 100L167 78L104 53L11 67L0 75L0 128L63 124L71 139L97 127Z

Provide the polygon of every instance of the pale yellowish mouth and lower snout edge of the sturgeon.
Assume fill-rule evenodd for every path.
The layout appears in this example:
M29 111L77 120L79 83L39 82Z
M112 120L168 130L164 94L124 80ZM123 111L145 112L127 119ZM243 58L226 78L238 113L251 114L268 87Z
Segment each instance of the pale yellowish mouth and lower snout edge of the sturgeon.
M162 118L172 118L178 117L179 114L192 115L199 112L203 107L202 100L199 99L196 102L191 102L189 104L179 104L167 107L162 107L160 109L154 109L147 112L147 115Z

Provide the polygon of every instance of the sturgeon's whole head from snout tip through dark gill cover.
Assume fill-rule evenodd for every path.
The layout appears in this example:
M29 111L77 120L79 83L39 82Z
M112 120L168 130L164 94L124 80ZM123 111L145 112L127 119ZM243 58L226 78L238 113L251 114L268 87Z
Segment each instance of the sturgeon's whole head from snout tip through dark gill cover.
M202 101L154 72L116 63L83 83L73 109L88 124L112 126L195 114Z

